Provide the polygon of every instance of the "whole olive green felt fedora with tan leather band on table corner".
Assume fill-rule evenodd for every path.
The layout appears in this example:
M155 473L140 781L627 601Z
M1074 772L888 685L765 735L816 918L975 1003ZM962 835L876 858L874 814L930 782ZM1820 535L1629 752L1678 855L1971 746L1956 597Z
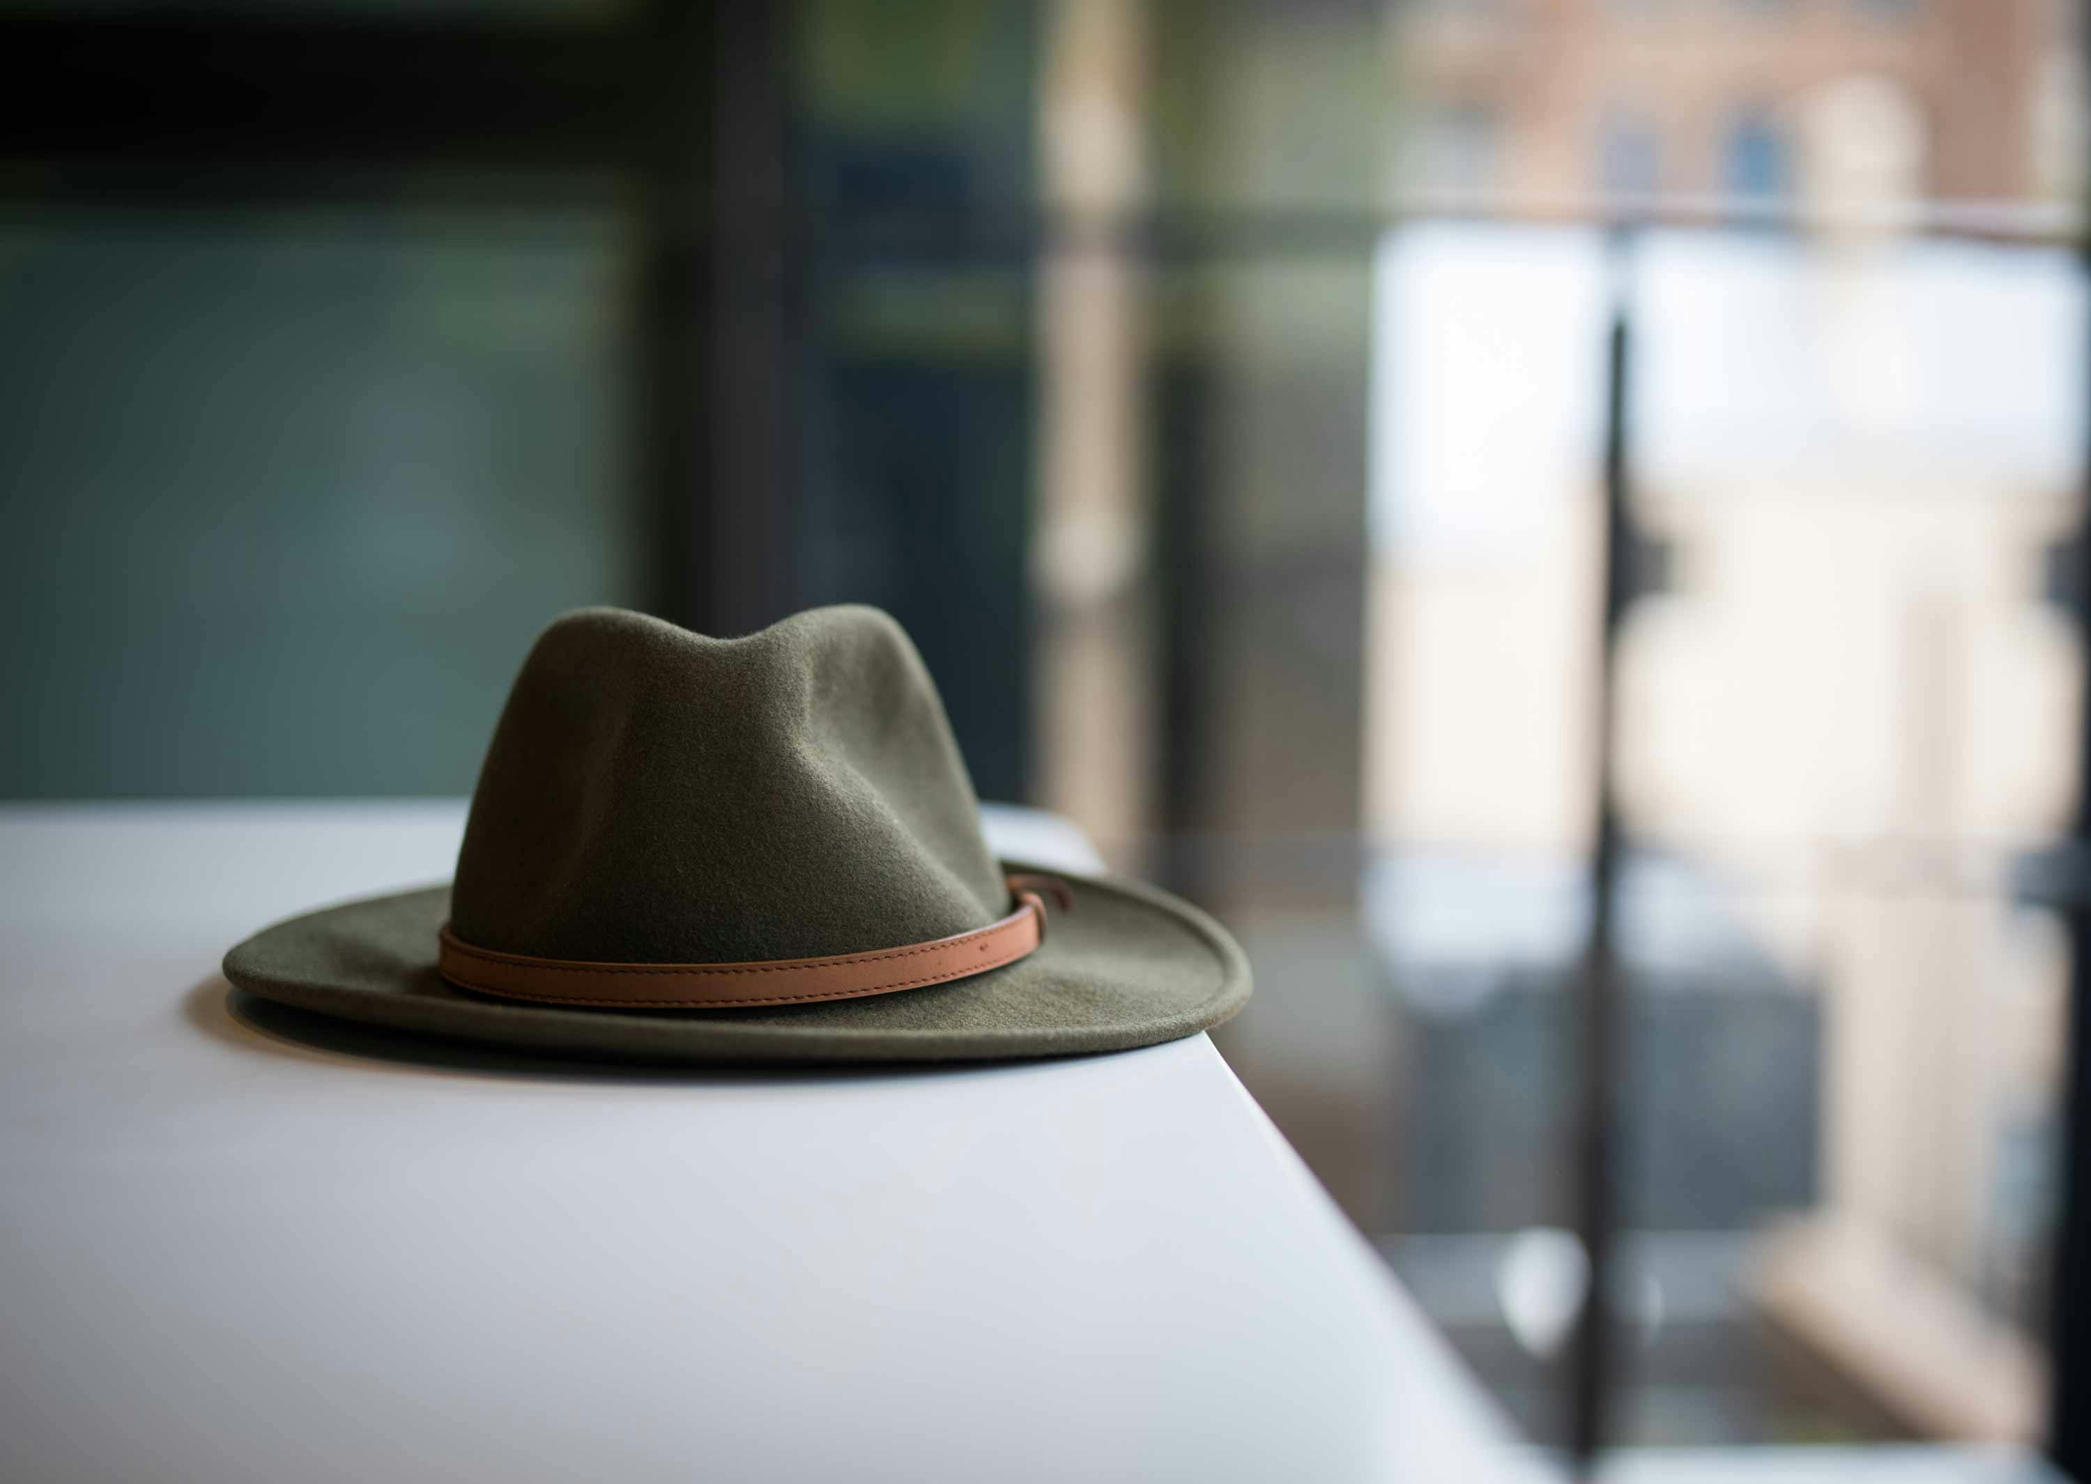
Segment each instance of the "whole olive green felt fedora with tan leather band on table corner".
M859 606L740 640L565 615L456 880L278 922L224 970L328 1016L644 1062L1117 1051L1248 999L1196 907L993 857L922 658Z

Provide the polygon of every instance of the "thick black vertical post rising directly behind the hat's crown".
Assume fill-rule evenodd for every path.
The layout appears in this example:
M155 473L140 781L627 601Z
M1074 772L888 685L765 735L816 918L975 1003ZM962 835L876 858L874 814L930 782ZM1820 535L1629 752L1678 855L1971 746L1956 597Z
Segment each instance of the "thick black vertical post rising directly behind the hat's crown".
M707 633L797 606L795 10L657 0L642 19L638 472L654 606Z

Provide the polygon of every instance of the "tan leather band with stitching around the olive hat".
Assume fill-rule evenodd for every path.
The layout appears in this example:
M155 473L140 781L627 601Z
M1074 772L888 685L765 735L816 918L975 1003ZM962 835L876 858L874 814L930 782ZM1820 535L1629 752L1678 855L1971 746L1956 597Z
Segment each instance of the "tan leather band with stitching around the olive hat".
M441 930L437 972L460 989L550 1005L734 1010L857 999L985 974L1027 957L1046 941L1046 903L1012 882L1016 909L999 922L930 943L870 953L763 964L585 964L496 953Z

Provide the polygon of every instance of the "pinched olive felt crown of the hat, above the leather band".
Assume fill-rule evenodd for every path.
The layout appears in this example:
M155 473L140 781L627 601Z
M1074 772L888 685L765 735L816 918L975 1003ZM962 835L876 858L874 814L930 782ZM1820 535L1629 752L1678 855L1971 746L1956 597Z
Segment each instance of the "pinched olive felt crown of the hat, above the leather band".
M1008 911L937 688L876 608L709 640L552 623L487 748L452 888L466 943L738 964L924 943Z

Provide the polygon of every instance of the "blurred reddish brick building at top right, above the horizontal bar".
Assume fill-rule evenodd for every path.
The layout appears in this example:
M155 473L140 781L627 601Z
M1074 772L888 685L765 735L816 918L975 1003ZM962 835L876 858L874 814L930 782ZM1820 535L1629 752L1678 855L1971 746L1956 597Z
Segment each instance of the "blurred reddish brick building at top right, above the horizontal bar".
M1934 201L2072 192L2066 0L1409 0L1403 184L1539 199L1782 196L1811 98L1892 84Z

